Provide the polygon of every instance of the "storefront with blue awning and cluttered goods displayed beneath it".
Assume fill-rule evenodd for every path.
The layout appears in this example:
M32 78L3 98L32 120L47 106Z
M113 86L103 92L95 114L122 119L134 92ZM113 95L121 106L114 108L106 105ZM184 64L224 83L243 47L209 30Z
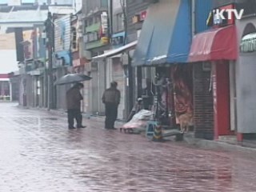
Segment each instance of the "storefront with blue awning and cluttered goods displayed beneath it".
M144 101L150 98L156 118L168 126L176 126L184 116L193 119L192 71L186 64L192 36L191 7L191 2L184 0L150 5L132 62L134 67L149 67L155 73L150 82L138 79L138 86L146 84L138 87L142 90L138 94Z

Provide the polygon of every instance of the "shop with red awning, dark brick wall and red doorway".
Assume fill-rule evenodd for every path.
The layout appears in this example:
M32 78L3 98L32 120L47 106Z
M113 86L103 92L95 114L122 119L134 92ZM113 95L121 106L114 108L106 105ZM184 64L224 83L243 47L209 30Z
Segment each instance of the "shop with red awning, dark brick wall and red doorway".
M230 6L218 9L226 7ZM237 29L234 18L217 22L194 36L188 59L194 65L194 129L198 138L219 139L235 131Z

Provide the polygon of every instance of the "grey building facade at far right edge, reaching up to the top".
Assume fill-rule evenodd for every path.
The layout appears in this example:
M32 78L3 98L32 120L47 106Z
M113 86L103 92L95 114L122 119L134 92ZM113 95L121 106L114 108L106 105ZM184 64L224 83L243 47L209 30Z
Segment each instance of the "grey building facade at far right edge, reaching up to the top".
M254 34L256 33L256 20L254 18L256 2L238 1L238 9L244 9L243 18L236 21L238 30L238 60L233 64L232 91L230 102L232 108L231 128L234 129L238 141L245 139L255 139L255 107L254 95L254 59L255 43ZM246 77L246 78L245 78Z

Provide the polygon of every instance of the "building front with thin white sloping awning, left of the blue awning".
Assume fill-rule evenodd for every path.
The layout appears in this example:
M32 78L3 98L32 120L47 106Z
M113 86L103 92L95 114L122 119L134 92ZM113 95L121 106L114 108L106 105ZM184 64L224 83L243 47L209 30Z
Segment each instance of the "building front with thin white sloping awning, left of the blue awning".
M137 44L138 36L133 36L135 23L138 25L137 29L141 29L143 17L146 15L139 13L146 12L146 5L149 3L143 3L143 10L141 10L141 1L135 4L136 14L134 10L134 2L129 1L110 1L109 13L110 17L110 46L109 50L105 51L104 54L94 56L92 62L102 62L106 66L106 87L110 86L111 81L118 82L118 89L121 91L121 103L118 109L118 118L126 119L130 114L130 110L133 107L135 100L136 81L134 78L134 69L131 67L131 54L134 52L134 47ZM130 6L133 4L133 6ZM132 14L130 14L132 13ZM138 17L137 22L133 23L133 18ZM141 17L142 16L142 17ZM132 24L132 25L130 25ZM130 28L129 28L130 27Z

